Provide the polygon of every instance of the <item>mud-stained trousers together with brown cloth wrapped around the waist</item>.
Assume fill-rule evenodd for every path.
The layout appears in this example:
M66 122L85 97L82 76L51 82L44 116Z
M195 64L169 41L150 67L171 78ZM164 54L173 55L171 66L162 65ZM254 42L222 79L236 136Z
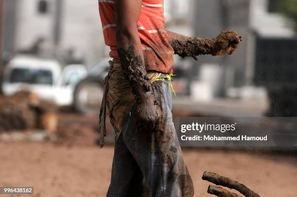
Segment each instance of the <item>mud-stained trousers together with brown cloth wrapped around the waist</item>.
M115 131L121 127L122 132L115 141L107 197L193 197L193 182L172 122L171 82L155 81L167 74L148 73L164 114L164 131L137 132L130 114L135 103L132 89L120 63L110 64L108 112Z

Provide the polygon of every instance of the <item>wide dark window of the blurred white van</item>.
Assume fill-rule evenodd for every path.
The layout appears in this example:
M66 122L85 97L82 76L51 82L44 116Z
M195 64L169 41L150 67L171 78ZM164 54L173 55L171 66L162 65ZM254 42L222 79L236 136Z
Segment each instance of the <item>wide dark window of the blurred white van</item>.
M52 85L52 73L44 69L14 68L11 71L11 83L30 83Z

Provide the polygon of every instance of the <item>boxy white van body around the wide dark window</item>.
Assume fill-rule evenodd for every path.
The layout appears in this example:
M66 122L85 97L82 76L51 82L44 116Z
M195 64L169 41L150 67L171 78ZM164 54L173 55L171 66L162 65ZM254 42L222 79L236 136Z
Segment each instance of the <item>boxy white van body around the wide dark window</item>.
M11 96L18 91L28 90L41 99L54 100L52 90L60 75L61 66L55 60L16 56L4 70L3 93Z

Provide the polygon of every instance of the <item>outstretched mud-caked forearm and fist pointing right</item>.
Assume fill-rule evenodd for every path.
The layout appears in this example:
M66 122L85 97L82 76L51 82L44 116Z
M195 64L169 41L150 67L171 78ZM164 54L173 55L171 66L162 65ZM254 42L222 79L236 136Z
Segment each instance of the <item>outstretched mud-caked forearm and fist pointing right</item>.
M167 31L169 44L174 53L181 57L193 57L198 55L224 55L232 54L241 41L238 33L223 31L214 39L188 37L178 33Z

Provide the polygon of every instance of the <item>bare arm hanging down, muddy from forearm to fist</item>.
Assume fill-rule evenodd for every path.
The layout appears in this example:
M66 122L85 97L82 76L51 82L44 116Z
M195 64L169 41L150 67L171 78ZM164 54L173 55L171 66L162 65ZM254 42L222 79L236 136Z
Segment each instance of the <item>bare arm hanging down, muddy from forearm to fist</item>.
M141 3L142 0L115 0L116 45L124 74L136 98L132 109L134 124L139 130L160 131L163 114L147 76L137 31Z

